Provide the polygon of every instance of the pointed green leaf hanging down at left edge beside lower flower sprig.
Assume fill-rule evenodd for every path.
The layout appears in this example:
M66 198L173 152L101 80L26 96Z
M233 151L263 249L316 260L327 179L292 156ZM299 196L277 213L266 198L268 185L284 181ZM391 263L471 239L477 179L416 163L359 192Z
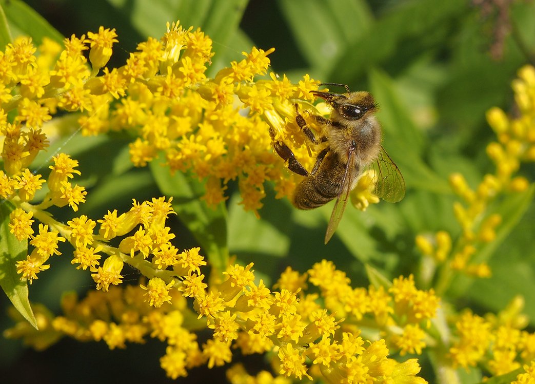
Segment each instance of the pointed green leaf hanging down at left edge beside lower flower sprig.
M0 287L13 306L37 329L37 320L28 299L28 284L20 280L16 262L28 254L28 242L17 240L9 230L9 215L14 207L7 201L0 204Z

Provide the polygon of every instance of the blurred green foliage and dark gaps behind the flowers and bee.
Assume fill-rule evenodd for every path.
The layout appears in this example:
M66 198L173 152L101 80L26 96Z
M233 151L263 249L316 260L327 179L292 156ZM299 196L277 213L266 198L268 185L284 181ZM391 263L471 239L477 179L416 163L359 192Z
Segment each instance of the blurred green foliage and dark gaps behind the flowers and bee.
M298 212L288 201L274 199L271 192L257 220L243 211L231 190L226 211L214 213L186 204L179 212L182 219L202 214L205 223L212 223L213 231L207 234L215 236L217 247L210 253L215 255L211 262L217 263L217 255L224 257L228 250L240 261L254 261L266 285L287 265L304 272L326 258L344 270L354 285L366 286L365 262L390 278L417 273L415 236L442 229L459 231L448 175L461 172L475 186L493 167L485 155L493 137L485 112L499 106L514 114L510 82L516 70L530 61L533 64L535 57L535 4L500 3L506 4L507 12L484 0L32 0L27 4L6 0L0 17L9 30L2 23L0 48L5 47L9 32L30 35L39 44L43 36L62 41L63 36L79 36L103 25L117 29L119 43L109 66L119 66L138 42L149 35L160 36L166 21L180 19L182 25L201 27L213 39L216 55L211 74L241 58L241 51L253 45L275 47L270 56L272 70L294 81L310 73L322 81L369 90L380 104L384 146L406 179L407 196L399 204L381 203L365 213L348 207L337 236L326 246L323 237L332 205ZM85 178L79 183L89 191L79 214L89 217L101 217L107 209L127 210L132 198L144 200L184 185L183 180L166 178L157 164L134 169L127 143L128 138L118 135L75 135L54 142L40 161L44 164L58 148L79 160ZM521 173L534 179L532 166ZM187 194L194 197L199 186L189 187L185 203ZM535 319L535 251L526 235L535 232L535 209L531 201L499 209L508 225L502 226L498 246L488 250L493 276L456 282L446 297L457 307L483 314L501 310L521 294L526 298L525 313ZM61 215L58 212L57 217L64 222L70 219ZM180 220L171 220L181 247L208 241L192 235L191 221L184 221L188 229ZM83 295L93 288L88 277L74 270L66 258L56 259L50 273L43 273L32 285L30 299L59 313L61 293L76 290ZM137 281L134 271L125 277ZM3 314L9 305L5 297L0 298ZM10 325L2 315L0 328ZM532 320L531 331L533 325ZM64 340L39 353L2 338L0 377L6 382L15 378L18 382L108 382L118 377L128 382L164 382L168 379L158 364L163 348L149 342L110 352L104 343ZM262 364L261 358L250 359L251 365ZM423 377L432 381L427 376L430 367L425 361L421 364ZM198 371L192 371L187 380L223 374Z

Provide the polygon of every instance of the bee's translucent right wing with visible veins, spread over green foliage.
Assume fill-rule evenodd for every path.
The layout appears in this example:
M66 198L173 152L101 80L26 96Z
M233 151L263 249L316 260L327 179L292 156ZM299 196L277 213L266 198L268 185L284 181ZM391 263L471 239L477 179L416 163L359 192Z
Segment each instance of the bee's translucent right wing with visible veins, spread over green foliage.
M405 195L405 180L398 165L388 156L381 146L377 160L372 163L376 172L376 195L388 202L398 202Z

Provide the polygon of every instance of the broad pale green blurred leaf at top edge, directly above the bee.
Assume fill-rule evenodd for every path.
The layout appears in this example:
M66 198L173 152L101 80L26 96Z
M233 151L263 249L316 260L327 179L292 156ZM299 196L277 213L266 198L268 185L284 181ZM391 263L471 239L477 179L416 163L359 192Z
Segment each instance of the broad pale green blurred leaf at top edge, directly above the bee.
M335 57L345 52L372 21L368 4L358 0L281 0L278 4L315 77L330 72Z

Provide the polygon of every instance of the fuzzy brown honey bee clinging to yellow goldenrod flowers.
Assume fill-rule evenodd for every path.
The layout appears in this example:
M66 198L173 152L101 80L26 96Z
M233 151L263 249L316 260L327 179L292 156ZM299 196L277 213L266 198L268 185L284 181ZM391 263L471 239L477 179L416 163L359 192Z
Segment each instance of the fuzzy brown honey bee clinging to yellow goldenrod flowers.
M325 234L325 244L331 239L342 219L349 193L367 167L376 172L375 193L388 202L397 202L405 195L405 181L397 165L381 146L381 126L375 113L377 103L369 92L351 92L347 85L324 83L345 87L347 93L338 94L311 91L332 107L329 119L318 115L311 118L321 128L322 136L314 133L297 113L296 123L313 144L326 142L314 167L309 172L295 158L292 150L282 141L274 140L277 154L287 162L289 170L304 176L293 195L293 205L299 209L314 209L337 198Z

